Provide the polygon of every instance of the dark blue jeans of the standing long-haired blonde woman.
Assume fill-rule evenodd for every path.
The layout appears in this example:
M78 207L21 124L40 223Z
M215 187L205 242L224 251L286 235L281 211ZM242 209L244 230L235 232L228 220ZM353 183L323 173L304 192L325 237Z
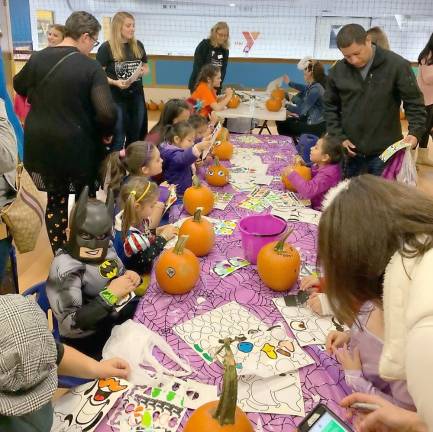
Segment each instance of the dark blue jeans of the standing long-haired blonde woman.
M147 135L147 109L142 92L134 92L116 102L117 122L111 151L119 151Z

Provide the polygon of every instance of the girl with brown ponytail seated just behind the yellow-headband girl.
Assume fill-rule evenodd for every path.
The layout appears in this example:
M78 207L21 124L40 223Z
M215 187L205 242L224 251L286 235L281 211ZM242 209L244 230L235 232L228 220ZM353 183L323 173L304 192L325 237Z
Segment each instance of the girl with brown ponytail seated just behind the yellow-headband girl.
M136 141L126 149L110 153L104 164L103 178L105 188L110 188L117 199L128 176L153 177L161 173L162 159L158 148L149 141ZM160 224L169 194L169 185L161 184L158 202L150 216L151 228Z

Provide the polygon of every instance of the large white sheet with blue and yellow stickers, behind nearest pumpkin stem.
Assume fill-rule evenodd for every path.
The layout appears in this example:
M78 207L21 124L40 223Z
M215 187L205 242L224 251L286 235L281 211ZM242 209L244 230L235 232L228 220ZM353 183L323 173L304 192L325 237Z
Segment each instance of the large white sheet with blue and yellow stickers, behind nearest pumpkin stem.
M269 327L236 302L186 321L174 331L208 364L222 360L216 355L220 339L237 338L231 348L239 375L274 376L313 363L281 323Z

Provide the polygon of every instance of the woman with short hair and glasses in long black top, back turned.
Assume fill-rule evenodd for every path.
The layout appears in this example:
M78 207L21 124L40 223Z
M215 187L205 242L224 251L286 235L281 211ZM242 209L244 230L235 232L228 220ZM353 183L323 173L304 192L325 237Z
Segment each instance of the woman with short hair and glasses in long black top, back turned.
M79 194L86 185L95 193L104 141L116 122L107 77L88 57L101 26L89 13L74 12L65 27L63 42L34 53L14 78L16 92L30 98L24 165L47 191L45 222L53 252L66 242L69 193Z

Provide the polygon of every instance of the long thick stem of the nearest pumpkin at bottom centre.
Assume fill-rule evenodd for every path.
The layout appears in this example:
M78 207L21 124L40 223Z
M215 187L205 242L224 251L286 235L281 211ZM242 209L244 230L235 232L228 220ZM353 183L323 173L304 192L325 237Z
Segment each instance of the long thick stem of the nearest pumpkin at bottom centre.
M230 348L232 342L234 342L234 339L225 338L222 340L223 346L220 348L220 351L225 349L223 388L213 418L217 420L221 426L235 424L236 402L238 399L238 376L236 373L235 358Z

